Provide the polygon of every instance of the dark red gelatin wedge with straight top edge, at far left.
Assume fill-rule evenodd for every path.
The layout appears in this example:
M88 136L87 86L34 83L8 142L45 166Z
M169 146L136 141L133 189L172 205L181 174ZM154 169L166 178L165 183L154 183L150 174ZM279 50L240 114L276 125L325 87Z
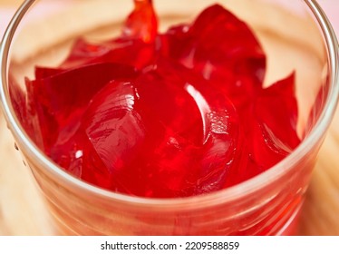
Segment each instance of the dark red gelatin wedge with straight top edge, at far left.
M39 126L36 131L42 132L44 148L48 151L53 142L63 137L60 133L76 130L74 126L79 125L77 122L82 112L105 83L136 74L130 66L106 63L85 65L34 81L26 80L29 105L37 114Z

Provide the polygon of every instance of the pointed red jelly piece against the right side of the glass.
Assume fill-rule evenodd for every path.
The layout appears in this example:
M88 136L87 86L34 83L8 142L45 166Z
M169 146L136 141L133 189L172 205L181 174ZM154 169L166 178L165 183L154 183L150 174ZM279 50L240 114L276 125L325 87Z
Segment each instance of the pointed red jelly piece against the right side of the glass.
M295 74L273 83L257 93L252 106L241 115L243 135L241 151L246 171L231 172L232 184L246 181L286 158L300 143L296 134L297 103Z

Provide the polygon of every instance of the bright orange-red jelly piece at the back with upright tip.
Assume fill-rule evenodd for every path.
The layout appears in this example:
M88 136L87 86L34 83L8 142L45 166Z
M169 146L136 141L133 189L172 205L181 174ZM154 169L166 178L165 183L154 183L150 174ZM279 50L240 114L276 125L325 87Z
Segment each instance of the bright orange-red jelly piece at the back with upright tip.
M152 64L156 56L157 16L150 0L135 0L134 4L134 11L126 20L120 38L104 44L90 44L79 39L61 67L111 62L141 69Z

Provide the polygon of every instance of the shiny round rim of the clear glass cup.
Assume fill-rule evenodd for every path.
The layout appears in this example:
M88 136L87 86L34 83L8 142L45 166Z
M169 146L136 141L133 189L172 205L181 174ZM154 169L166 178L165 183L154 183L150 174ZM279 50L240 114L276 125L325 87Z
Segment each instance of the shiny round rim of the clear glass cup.
M297 163L300 158L303 158L308 151L311 151L314 145L322 140L324 133L327 131L336 109L336 105L339 99L339 49L336 36L334 34L334 29L330 24L327 16L324 14L324 10L315 0L302 0L305 2L305 5L308 5L309 10L315 15L317 23L320 25L320 28L324 36L324 44L327 46L328 57L329 57L329 96L324 104L324 110L321 112L321 115L315 127L309 133L305 140L289 154L284 160L279 161L276 165L264 171L257 176L238 183L235 186L226 188L224 190L214 191L204 195L198 195L193 197L186 198L171 198L171 199L154 199L154 198L143 198L143 197L134 197L126 194L116 193L111 190L103 190L99 187L93 186L90 183L84 182L73 177L71 174L64 171L61 167L56 165L51 161L47 156L44 155L44 152L39 150L33 142L31 142L28 135L24 132L21 124L18 123L18 120L15 116L14 108L10 102L9 93L8 93L8 84L6 78L7 66L8 66L8 54L10 49L10 44L12 42L13 36L15 34L15 29L18 24L24 17L25 13L30 9L37 0L25 0L24 3L18 8L15 15L13 16L10 24L7 26L3 41L0 46L0 56L1 56L1 80L0 80L0 104L2 106L7 127L11 130L13 136L15 137L15 142L18 142L20 148L24 149L25 154L30 156L34 161L37 161L39 167L43 167L44 170L52 173L53 177L63 179L67 186L72 186L73 188L78 188L81 190L87 191L87 193L92 193L94 195L99 195L108 200L119 200L122 202L127 202L135 205L145 205L145 206L160 206L162 208L169 207L185 207L185 204L194 202L195 205L199 204L200 207L206 207L208 204L216 203L218 200L222 202L237 200L244 198L250 193L260 190L265 186L263 180L266 182L274 181L280 176L286 174L290 171L295 163ZM197 206L195 206L197 209Z

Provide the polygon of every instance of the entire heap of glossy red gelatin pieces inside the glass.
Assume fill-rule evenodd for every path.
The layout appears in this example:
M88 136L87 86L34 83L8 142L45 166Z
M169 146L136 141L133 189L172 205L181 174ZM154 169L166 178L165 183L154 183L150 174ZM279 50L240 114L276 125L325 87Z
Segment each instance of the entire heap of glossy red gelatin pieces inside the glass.
M221 5L158 33L135 1L121 36L80 38L58 68L36 67L16 110L74 176L120 193L187 197L266 171L299 144L295 73L264 88L266 54ZM20 109L20 110L18 110Z

